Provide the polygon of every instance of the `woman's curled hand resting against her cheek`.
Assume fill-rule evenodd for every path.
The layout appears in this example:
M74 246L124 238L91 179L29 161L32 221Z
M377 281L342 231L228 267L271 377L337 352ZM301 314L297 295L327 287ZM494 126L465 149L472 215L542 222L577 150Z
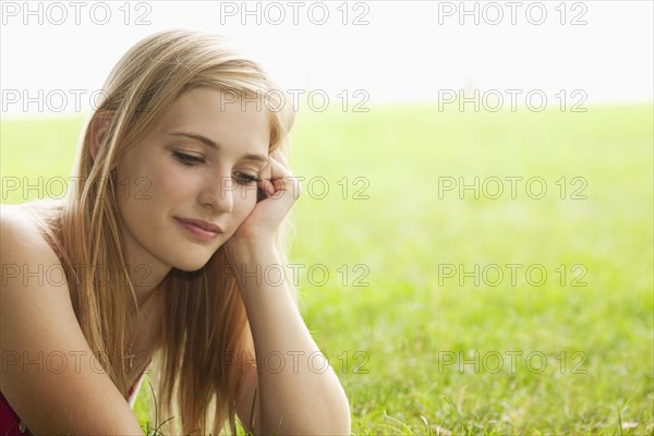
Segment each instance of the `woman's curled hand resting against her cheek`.
M243 250L275 244L277 230L302 193L302 187L289 169L280 150L275 150L261 172L258 187L267 198L259 201L227 242L227 251L235 261Z

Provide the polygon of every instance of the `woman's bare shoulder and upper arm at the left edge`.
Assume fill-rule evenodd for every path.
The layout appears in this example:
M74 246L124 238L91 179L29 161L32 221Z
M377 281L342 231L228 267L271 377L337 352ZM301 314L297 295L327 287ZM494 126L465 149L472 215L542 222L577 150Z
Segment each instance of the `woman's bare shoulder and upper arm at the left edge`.
M2 206L0 232L0 390L11 407L33 434L142 434L93 355L31 213Z

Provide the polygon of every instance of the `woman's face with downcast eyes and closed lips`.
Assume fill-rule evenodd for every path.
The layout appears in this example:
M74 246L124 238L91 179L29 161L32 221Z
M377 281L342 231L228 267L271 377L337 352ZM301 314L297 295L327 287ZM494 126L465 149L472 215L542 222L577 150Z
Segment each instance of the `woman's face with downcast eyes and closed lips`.
M180 97L117 162L130 262L202 268L256 205L269 134L254 101L210 88Z

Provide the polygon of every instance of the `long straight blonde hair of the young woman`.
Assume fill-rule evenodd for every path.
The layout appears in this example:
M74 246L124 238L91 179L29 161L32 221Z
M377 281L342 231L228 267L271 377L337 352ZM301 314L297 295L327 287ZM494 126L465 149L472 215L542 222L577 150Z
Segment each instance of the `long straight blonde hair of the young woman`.
M125 286L137 314L138 307L120 238L112 167L182 94L201 86L269 98L269 152L280 148L288 154L293 112L257 63L216 35L160 32L132 47L107 78L105 98L87 123L76 157L73 175L82 183L59 206L33 208L62 262L88 344L124 396ZM108 128L94 159L92 126L100 122ZM286 261L284 227L278 245ZM226 266L221 247L199 270L173 268L162 283L160 343L150 372L157 401L150 411L171 419L166 427L171 434L179 434L178 424L184 434L218 434L226 421L235 431L237 389L246 361L252 363L254 344L240 290L233 275L225 274ZM295 290L291 292L295 296Z

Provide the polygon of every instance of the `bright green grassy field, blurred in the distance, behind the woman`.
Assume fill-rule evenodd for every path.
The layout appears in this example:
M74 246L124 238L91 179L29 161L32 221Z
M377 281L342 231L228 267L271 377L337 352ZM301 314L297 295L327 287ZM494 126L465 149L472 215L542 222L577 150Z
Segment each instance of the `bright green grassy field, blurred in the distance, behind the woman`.
M354 434L654 432L653 119L651 104L299 114L291 261ZM2 202L39 195L23 177L68 177L82 123L3 121Z

